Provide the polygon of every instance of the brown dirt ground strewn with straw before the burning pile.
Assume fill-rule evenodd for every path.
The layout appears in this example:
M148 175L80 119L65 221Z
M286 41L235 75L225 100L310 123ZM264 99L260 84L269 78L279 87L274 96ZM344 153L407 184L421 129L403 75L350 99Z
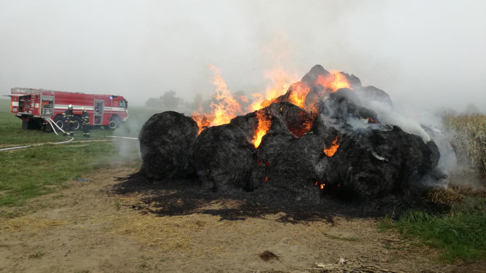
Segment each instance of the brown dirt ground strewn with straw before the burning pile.
M72 181L21 211L2 208L22 215L0 218L0 272L312 272L314 263L341 257L402 272L486 272L484 262L440 264L438 250L378 232L376 218L291 223L278 221L283 212L244 220L160 217L140 209L142 194L111 190L119 177L137 171L102 170L87 177L92 182ZM265 261L259 256L265 251L277 257Z

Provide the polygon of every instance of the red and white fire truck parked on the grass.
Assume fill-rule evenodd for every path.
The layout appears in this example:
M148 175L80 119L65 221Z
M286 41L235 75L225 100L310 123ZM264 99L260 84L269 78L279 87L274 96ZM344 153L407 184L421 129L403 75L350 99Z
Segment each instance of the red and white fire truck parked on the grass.
M22 120L24 129L56 130L63 128L62 113L72 104L75 130L81 129L81 107L89 113L89 125L110 129L124 124L128 118L127 101L122 96L85 94L32 88L12 88L8 95L10 111ZM66 128L63 128L65 130Z

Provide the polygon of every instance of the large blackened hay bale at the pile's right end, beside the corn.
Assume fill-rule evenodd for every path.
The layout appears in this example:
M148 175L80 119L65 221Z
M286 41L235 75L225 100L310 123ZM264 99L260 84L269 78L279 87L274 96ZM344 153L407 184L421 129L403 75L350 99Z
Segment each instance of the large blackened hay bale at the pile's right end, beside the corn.
M401 192L432 171L439 156L433 141L426 144L398 126L356 130L342 136L329 158L324 191L364 199Z

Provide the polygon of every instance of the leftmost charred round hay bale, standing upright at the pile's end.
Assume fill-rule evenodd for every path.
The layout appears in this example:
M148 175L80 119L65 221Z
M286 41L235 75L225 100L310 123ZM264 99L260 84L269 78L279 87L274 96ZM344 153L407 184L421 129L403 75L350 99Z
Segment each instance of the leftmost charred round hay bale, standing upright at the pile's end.
M194 120L174 111L150 117L139 134L140 173L150 179L184 178L193 174L189 150L198 131Z

